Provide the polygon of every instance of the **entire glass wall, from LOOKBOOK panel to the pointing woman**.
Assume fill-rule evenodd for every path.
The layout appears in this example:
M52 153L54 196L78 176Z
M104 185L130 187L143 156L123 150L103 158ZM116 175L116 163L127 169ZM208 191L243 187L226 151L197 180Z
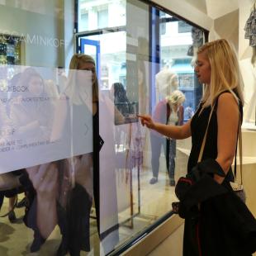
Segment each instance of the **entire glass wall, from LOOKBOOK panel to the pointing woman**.
M137 114L178 89L192 116L204 31L139 0L0 6L0 254L120 254L172 216L186 147Z

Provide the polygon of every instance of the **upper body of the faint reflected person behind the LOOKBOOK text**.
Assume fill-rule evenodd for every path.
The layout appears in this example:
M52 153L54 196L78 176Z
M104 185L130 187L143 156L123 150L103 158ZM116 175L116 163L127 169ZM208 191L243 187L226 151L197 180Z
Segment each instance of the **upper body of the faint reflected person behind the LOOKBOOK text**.
M49 139L53 106L47 100L43 78L35 69L28 68L21 73L18 85L25 88L25 92L13 93L10 119L22 145Z

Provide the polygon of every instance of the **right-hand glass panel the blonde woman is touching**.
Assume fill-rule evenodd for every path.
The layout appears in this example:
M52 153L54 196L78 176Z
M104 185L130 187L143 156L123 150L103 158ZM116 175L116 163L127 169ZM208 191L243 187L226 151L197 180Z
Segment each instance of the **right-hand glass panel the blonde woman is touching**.
M171 211L171 202L177 200L175 181L187 172L190 142L168 140L136 118L151 113L157 121L181 125L192 117L201 97L192 62L203 33L193 40L196 28L160 14L143 2L127 1L126 31L99 30L99 35L79 37L98 41L100 47L100 233L105 253ZM90 50L90 45L80 46L86 53ZM159 59L154 58L157 54ZM175 99L175 90L181 101L168 103L166 97ZM178 118L182 109L184 116Z

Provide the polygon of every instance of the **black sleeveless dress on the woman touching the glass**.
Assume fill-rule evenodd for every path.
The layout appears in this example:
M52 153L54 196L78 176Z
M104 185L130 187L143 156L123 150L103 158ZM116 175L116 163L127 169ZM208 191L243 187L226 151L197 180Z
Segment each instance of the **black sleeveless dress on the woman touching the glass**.
M222 92L223 93L223 92ZM218 123L217 123L217 107L218 98L216 99L215 109L213 110L211 121L209 124L206 145L202 155L202 159L216 159L217 151L217 137L218 137ZM197 165L197 159L201 149L201 143L206 132L206 126L211 113L211 106L204 108L201 111L202 104L199 106L197 112L192 117L191 133L192 133L192 149L188 159L187 173L192 171L192 168ZM201 113L200 113L201 112ZM243 107L239 104L240 115L243 116ZM199 114L200 113L200 114ZM230 187L230 181L233 180L232 169L225 177L222 183L225 187ZM224 250L216 253L216 248L222 248L222 243L225 244L225 232L221 232L220 222L215 217L215 209L211 204L211 200L204 201L201 204L201 214L197 219L186 219L183 237L183 256L197 256L197 255L231 255L225 254ZM211 226L209 226L209 223ZM223 230L225 231L225 230ZM209 234L212 239L209 239ZM200 244L200 245L199 245ZM214 246L211 249L211 246ZM234 246L233 246L234 247ZM205 249L206 250L205 250ZM228 249L227 249L228 252ZM233 255L233 254L232 254ZM236 254L235 254L236 255ZM246 254L247 255L247 254Z

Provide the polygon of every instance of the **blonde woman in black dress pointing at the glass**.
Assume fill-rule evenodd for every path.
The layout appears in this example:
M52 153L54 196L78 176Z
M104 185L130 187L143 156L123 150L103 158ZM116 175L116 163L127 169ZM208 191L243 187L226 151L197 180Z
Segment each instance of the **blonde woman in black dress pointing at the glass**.
M186 198L191 204L191 208L186 209L193 210L183 216L183 255L251 255L256 237L254 233L247 239L247 235L253 234L249 229L255 232L255 219L230 187L239 116L242 119L244 104L244 84L235 50L225 39L202 45L197 53L195 73L199 82L205 85L205 93L190 121L183 126L168 126L155 123L150 116L140 116L141 123L173 139L192 136L187 172L193 174L201 166L212 172L211 175L202 174L183 197L183 201ZM197 164L212 107L205 149L201 163Z

